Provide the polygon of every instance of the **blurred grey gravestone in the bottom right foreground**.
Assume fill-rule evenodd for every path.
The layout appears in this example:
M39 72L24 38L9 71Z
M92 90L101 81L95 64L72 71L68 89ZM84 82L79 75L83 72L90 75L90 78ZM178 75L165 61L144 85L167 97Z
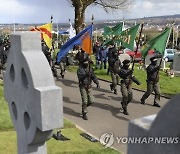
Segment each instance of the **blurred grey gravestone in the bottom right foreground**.
M153 141L128 144L128 154L179 154L179 100L180 95L177 95L161 109L158 115L139 118L129 123L129 137L141 137L141 139L153 139ZM160 139L161 143L155 142L155 139ZM170 139L174 142L167 143Z

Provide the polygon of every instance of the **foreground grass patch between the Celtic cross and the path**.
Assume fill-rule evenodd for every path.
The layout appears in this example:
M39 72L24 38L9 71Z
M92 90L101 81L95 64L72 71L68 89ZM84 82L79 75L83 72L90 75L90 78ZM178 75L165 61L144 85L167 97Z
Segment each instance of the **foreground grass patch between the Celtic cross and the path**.
M51 139L47 142L48 153L59 154L59 153L73 153L73 154L117 154L118 152L112 149L106 149L100 145L100 143L90 142L80 136L82 131L76 128L68 128L62 131L63 135L68 137L70 141L56 141ZM55 147L58 147L56 149ZM63 149L63 152L61 150Z

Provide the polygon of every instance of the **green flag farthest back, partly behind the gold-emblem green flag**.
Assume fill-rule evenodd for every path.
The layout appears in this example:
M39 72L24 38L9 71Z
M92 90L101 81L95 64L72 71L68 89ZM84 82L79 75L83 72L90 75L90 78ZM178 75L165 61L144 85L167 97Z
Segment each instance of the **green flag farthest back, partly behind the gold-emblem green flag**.
M118 35L122 32L123 23L119 23L114 27L105 26L103 35Z

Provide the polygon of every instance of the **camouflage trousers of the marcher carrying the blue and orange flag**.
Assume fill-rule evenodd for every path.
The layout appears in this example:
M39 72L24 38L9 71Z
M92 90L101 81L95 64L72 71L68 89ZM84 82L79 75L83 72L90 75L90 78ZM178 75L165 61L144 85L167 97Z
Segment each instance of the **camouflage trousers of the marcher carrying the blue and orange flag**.
M87 89L85 86L80 86L79 90L82 98L82 113L87 113L87 106L94 103L92 88Z

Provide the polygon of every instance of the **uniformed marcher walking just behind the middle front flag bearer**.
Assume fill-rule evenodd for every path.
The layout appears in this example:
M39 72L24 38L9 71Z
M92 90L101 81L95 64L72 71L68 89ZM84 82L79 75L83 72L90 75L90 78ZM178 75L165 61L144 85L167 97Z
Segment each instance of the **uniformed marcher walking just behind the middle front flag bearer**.
M121 61L118 59L118 53L113 52L111 59L109 59L109 70L111 72L112 84L110 84L111 91L117 94L117 85L119 83L118 72L121 67Z

